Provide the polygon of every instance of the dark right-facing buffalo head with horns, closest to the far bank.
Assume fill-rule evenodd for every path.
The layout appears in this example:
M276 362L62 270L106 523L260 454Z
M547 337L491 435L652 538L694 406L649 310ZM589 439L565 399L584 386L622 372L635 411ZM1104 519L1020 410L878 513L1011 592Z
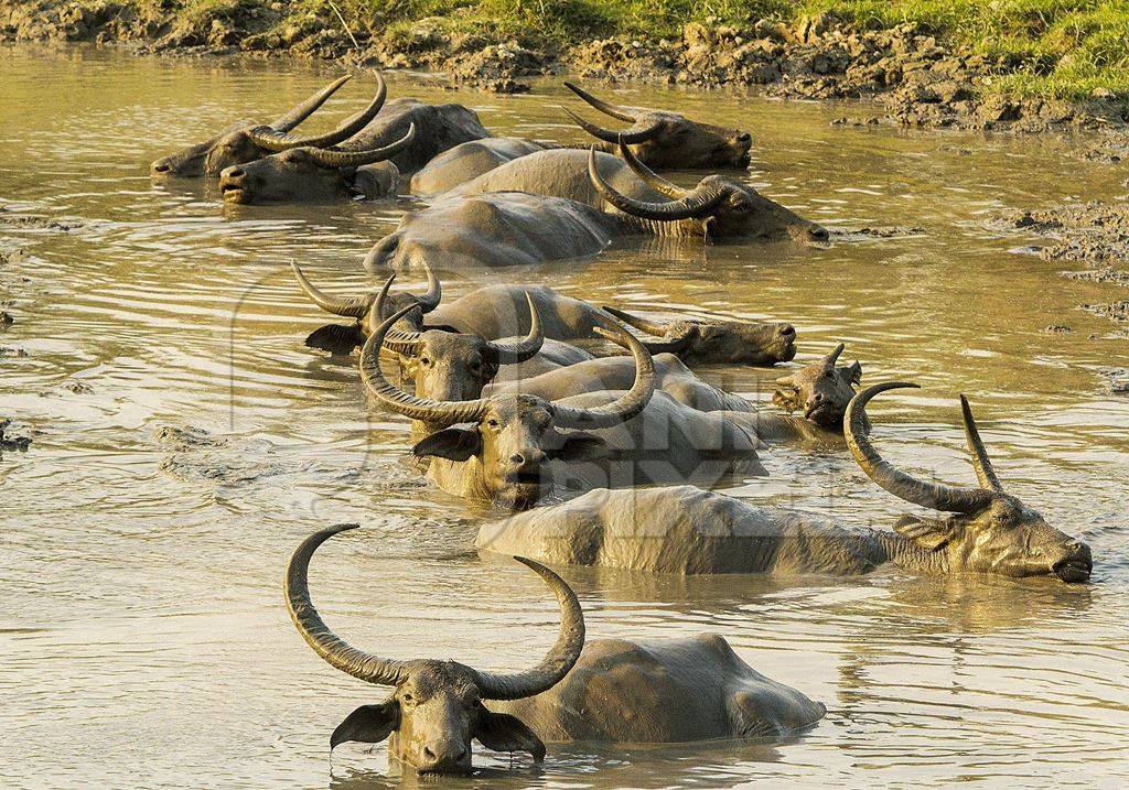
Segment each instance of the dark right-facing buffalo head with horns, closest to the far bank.
M657 169L692 167L749 167L749 132L691 121L680 113L660 109L628 109L603 102L571 82L564 87L599 112L631 128L613 131L597 126L566 109L581 129L613 146L631 146L640 160Z

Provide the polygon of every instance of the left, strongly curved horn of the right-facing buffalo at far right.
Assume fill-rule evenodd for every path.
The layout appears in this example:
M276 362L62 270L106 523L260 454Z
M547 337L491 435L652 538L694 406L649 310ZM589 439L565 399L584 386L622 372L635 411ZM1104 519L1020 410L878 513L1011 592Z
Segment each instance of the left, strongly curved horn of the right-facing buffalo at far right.
M989 492L980 489L959 489L952 485L918 480L895 468L874 449L866 430L867 402L878 393L905 387L917 389L918 385L905 381L876 384L867 387L851 398L850 404L847 406L847 414L843 418L843 432L847 436L847 446L850 447L855 460L858 462L858 465L866 472L867 476L883 489L900 499L904 499L907 502L920 504L922 508L933 508L934 510L944 510L946 512L971 514L988 507L991 502L991 494Z

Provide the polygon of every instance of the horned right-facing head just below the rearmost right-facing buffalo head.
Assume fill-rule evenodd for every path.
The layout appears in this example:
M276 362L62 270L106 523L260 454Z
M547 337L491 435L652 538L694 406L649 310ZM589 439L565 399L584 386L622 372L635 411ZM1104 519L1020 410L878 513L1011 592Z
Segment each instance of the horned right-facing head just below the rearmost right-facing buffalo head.
M674 235L791 239L817 245L828 240L826 228L799 217L736 178L709 175L694 188L685 190L656 175L623 143L620 143L620 156L647 186L671 200L648 202L616 192L596 168L595 148L588 158L592 185L605 201L630 217L649 222L679 222L679 231Z

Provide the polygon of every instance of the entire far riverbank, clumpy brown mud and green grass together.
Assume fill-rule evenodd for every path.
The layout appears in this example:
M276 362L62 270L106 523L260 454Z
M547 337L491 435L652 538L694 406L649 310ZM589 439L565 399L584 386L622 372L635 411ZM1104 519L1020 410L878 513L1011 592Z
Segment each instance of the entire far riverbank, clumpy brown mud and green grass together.
M908 126L1039 132L1129 121L1129 3L1051 0L0 0L0 41L128 43L446 72L487 90L587 79L873 98ZM1061 8L1069 6L1069 9ZM1123 7L1124 6L1124 7Z

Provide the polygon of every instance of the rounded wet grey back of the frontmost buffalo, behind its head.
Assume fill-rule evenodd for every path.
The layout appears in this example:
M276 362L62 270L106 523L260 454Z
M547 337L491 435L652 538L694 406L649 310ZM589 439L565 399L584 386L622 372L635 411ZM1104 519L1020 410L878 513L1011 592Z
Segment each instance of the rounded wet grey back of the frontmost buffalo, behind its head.
M779 737L826 713L754 670L716 634L588 642L563 681L499 710L545 743L625 744Z

